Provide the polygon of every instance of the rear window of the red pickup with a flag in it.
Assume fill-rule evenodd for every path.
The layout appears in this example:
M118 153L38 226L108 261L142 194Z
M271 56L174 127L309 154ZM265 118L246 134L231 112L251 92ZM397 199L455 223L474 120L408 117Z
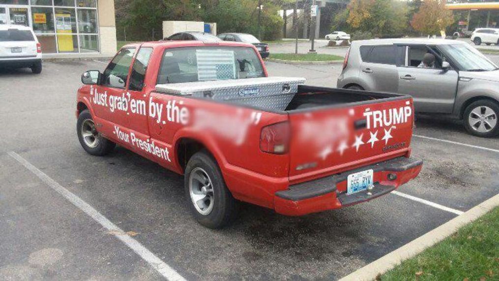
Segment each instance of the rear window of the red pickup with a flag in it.
M163 53L157 84L264 77L249 47L169 48Z

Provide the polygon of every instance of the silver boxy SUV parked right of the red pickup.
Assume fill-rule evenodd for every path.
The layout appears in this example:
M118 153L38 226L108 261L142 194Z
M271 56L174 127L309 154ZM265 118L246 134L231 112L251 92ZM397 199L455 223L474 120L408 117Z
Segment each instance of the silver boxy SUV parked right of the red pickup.
M433 57L433 64L425 65L425 56ZM499 134L499 68L466 42L353 41L337 86L408 94L417 113L462 119L476 136Z

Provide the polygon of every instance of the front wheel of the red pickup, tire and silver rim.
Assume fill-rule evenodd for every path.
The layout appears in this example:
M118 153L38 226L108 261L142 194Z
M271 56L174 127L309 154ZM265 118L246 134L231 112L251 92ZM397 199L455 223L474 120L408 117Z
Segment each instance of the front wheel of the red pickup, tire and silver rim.
M90 111L88 111L88 109L83 110L78 116L78 121L76 122L76 132L81 146L91 155L106 155L116 146L114 142L104 138L99 132L97 132L92 115L90 115Z

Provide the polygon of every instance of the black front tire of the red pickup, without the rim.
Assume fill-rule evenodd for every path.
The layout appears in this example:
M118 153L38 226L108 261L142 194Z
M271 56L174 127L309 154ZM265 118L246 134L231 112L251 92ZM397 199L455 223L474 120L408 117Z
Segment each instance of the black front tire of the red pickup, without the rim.
M88 109L85 109L80 113L80 115L78 115L78 121L76 122L76 133L78 134L78 140L80 141L81 146L88 154L91 154L91 155L103 156L103 155L108 154L109 152L111 152L114 149L116 144L114 142L104 138L102 135L100 135L98 132L96 132L95 127L93 128L93 130L96 133L94 138L98 140L97 145L95 147L91 147L83 139L82 126L84 123L86 126L87 123L89 123L89 122L85 122L85 121L88 121L88 120L90 120L93 124L93 119L92 119L92 115L90 114L90 111Z

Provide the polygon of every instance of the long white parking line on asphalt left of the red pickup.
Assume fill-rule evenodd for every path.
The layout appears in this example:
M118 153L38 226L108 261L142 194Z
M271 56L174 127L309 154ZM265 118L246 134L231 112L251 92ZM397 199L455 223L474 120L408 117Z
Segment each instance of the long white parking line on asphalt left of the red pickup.
M7 152L12 158L17 160L22 166L35 174L41 181L48 185L51 189L62 195L69 202L71 202L78 209L83 211L85 214L90 216L101 226L110 231L116 238L121 240L128 248L132 249L137 255L139 255L144 261L146 261L153 269L155 269L159 274L161 274L167 280L172 281L184 281L185 279L180 276L174 269L165 264L160 258L156 257L147 248L142 246L137 240L131 238L125 232L123 232L119 227L109 221L106 217L101 215L92 206L88 205L85 201L81 200L78 196L74 195L67 189L63 188L56 181L52 180L42 171L38 170L35 166L29 163L27 160L22 158L17 153L10 151Z

